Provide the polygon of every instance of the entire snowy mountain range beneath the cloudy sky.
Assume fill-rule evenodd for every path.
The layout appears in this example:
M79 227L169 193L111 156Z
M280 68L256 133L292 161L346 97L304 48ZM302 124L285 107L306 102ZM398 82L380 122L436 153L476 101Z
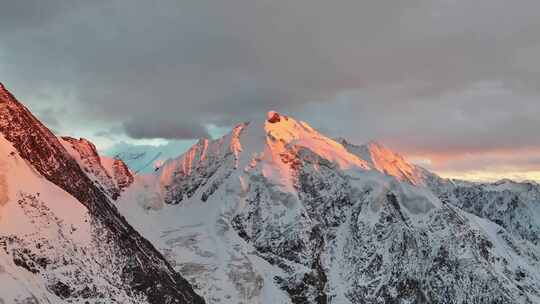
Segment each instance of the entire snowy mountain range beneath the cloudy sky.
M123 155L0 86L0 303L540 303L535 182L444 179L277 112L148 172Z

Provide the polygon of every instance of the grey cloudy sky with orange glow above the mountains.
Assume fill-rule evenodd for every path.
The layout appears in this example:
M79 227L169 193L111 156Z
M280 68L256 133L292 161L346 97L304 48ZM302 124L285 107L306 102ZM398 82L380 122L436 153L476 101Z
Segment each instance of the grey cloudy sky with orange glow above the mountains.
M0 0L0 81L102 149L275 109L445 176L540 180L538 0Z

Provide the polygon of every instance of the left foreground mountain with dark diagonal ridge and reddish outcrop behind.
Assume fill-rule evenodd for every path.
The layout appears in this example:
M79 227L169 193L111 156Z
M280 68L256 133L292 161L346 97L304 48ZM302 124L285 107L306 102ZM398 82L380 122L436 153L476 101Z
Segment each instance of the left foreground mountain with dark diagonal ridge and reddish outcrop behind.
M129 170L94 152L0 85L0 303L203 303L114 207Z

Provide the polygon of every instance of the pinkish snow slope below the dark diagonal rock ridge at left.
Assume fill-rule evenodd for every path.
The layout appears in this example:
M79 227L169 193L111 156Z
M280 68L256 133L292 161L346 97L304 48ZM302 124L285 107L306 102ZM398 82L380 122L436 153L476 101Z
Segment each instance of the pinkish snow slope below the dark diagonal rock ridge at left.
M0 155L0 302L145 303L117 283L123 257L102 242L88 210L39 176L1 136Z

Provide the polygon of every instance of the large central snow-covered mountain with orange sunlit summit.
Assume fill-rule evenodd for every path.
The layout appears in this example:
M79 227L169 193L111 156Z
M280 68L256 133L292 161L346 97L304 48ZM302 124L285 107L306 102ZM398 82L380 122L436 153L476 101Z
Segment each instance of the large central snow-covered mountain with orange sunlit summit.
M539 190L445 180L270 112L116 204L208 303L540 303Z

